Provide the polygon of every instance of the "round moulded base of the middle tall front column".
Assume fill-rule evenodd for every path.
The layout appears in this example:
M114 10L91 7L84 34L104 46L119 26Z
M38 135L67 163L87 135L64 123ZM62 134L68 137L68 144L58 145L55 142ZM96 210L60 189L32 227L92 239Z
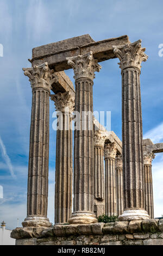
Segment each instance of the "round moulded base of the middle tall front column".
M95 214L91 214L89 212L74 212L71 215L71 218L68 220L70 224L89 224L89 223L97 223L97 218Z

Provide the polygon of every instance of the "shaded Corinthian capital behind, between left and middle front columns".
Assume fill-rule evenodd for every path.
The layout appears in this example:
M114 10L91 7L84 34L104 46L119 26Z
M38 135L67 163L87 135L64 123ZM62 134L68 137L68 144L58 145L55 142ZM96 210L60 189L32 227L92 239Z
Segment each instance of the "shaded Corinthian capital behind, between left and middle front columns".
M58 93L51 95L51 100L54 101L55 108L60 112L73 112L74 97L70 92Z

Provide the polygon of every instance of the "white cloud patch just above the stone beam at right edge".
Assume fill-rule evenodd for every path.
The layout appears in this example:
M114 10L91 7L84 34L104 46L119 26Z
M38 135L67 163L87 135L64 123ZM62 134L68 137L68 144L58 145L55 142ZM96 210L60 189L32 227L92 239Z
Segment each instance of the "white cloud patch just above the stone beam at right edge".
M149 138L153 143L161 142L163 140L163 123L146 132L143 138Z

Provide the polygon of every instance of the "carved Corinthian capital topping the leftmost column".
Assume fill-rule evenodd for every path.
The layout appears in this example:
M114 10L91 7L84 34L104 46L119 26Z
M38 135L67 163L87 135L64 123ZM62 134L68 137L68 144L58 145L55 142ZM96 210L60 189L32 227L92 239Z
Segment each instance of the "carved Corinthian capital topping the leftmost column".
M32 89L41 87L50 91L52 83L58 81L54 70L49 69L47 62L33 68L23 68L23 71L24 75L29 77Z

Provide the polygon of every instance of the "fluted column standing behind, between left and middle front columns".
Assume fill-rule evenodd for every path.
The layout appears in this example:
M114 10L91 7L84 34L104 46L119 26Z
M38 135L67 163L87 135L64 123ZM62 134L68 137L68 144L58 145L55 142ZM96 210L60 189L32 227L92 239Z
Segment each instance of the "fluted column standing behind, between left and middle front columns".
M55 162L55 224L68 222L72 211L72 112L70 92L51 95L58 117Z

